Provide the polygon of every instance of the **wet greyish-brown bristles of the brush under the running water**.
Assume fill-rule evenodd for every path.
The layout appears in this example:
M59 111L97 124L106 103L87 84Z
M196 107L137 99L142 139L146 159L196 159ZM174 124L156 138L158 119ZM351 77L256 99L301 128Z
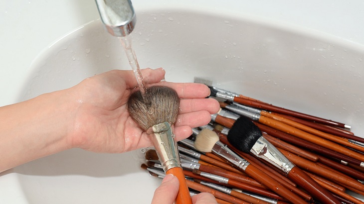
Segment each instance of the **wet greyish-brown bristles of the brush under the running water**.
M162 122L175 123L179 107L177 92L163 86L149 87L145 96L140 91L134 92L128 101L130 116L144 131Z

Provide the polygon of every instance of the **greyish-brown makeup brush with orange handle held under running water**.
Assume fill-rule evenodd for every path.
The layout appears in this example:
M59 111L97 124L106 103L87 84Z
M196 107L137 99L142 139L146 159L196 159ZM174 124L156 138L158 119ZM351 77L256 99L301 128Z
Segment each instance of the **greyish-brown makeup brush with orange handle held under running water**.
M158 154L166 174L175 175L180 181L177 204L192 204L181 167L174 123L180 108L180 99L175 90L164 86L153 86L141 94L134 92L127 103L130 116L147 133Z

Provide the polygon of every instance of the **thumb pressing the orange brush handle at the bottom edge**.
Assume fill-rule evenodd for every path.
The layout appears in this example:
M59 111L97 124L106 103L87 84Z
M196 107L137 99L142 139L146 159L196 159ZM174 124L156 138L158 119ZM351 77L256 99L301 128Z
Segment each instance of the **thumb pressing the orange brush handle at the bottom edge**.
M176 200L180 182L177 177L167 174L154 192L152 204L173 204Z

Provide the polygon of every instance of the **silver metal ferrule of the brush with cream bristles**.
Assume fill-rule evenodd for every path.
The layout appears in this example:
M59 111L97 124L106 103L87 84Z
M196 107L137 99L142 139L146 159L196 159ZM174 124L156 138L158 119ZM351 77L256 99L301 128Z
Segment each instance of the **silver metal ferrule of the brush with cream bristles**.
M250 164L220 141L215 143L212 147L212 151L243 171L245 171L246 167Z

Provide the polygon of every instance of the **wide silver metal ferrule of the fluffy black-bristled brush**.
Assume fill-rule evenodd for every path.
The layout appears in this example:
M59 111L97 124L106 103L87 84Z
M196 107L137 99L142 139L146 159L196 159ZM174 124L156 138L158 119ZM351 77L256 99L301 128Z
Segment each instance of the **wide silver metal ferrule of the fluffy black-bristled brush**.
M263 136L255 142L250 152L255 156L267 161L277 169L281 170L284 174L288 174L294 167L287 157L285 157L275 146L273 146Z

